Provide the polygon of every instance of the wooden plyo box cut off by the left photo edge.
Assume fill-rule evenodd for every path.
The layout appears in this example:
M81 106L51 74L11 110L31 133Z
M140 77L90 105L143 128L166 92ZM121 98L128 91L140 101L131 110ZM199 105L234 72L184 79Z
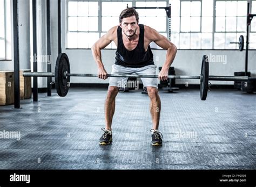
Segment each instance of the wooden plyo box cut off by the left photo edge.
M0 105L14 103L14 72L0 71Z

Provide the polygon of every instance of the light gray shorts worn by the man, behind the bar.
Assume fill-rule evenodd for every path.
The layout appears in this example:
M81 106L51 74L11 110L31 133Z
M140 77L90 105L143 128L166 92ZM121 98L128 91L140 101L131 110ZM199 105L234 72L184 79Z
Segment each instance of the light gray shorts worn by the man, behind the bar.
M156 65L144 66L142 68L130 68L125 66L120 66L117 64L112 65L111 74L139 74L139 75L156 75ZM138 81L128 81L128 77L110 77L109 86L119 87L119 88L135 88L138 90L139 84ZM146 87L157 87L157 78L141 78L143 82L143 89L146 90Z

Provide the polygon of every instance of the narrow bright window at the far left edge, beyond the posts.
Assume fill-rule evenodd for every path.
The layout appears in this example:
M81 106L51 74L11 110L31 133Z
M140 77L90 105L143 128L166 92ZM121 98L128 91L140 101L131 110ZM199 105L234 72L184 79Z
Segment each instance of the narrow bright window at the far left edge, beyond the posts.
M0 60L11 60L11 5L0 0Z

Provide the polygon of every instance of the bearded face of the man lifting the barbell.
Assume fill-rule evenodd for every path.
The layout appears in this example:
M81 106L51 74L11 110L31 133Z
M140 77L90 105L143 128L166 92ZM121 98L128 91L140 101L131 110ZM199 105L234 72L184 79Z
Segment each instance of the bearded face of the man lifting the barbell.
M132 16L129 18L123 18L122 23L119 23L119 26L127 37L133 37L137 31L138 23L136 21L136 17Z

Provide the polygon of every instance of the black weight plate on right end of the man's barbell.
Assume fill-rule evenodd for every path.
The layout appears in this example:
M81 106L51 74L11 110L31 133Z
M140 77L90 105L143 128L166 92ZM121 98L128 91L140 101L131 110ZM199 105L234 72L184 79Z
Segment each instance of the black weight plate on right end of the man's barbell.
M208 56L204 55L202 60L201 77L200 77L201 100L205 100L207 97L208 79L209 79L209 62L208 62Z

